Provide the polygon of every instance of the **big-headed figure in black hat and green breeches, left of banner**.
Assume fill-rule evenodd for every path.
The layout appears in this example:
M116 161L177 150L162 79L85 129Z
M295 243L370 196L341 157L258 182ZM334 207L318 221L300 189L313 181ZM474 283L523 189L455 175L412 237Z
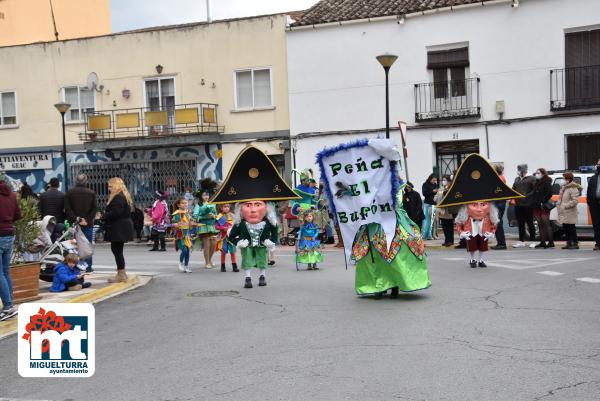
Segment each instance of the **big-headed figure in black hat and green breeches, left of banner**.
M259 149L245 148L227 174L213 203L235 203L229 241L240 248L244 288L252 288L251 269L259 269L259 286L267 285L268 250L278 240L275 207L269 201L298 199L271 160Z

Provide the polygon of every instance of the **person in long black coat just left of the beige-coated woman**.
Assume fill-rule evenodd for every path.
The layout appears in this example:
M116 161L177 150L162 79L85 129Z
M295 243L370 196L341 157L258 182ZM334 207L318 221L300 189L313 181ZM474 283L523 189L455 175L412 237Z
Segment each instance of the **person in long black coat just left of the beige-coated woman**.
M536 248L554 248L554 233L550 225L550 210L554 204L552 197L552 179L548 177L546 169L539 168L535 171L535 185L533 187L533 217L538 223L542 241Z

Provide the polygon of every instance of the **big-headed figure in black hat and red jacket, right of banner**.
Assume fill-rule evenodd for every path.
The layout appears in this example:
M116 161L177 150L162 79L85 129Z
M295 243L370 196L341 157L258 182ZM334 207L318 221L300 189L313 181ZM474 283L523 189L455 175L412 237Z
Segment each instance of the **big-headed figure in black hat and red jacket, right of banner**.
M498 209L491 202L522 197L481 155L470 154L462 162L439 206L461 206L455 219L456 231L467 242L469 266L487 267L484 254L499 221Z

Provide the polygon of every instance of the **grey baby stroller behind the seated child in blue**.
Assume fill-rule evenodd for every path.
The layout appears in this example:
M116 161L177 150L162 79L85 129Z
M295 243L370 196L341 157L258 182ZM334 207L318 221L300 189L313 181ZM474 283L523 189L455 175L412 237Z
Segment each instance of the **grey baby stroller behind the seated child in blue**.
M49 218L48 221L47 218ZM48 235L47 226L53 223L56 224L54 217L44 217L40 237ZM92 247L79 226L79 219L73 226L68 227L56 241L53 243L49 241L49 243L50 245L41 252L39 258L41 264L40 280L51 283L54 280L54 268L56 265L63 263L64 257L69 253L79 254L80 259L77 268L85 271L87 263L83 259L87 259L92 255Z

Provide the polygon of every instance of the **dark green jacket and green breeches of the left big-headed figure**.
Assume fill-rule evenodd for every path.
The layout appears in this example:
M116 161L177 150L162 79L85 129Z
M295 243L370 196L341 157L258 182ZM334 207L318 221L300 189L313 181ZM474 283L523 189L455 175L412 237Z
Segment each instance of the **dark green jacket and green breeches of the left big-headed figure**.
M245 248L239 248L242 254L242 269L248 270L251 268L266 269L269 265L269 252L264 246L265 240L270 240L274 244L277 243L279 236L277 226L272 225L266 218L263 219L265 226L260 234L252 233L248 229L248 223L245 220L234 224L229 232L229 241L237 246L240 240L247 240L249 245ZM259 244L259 245L254 245Z

